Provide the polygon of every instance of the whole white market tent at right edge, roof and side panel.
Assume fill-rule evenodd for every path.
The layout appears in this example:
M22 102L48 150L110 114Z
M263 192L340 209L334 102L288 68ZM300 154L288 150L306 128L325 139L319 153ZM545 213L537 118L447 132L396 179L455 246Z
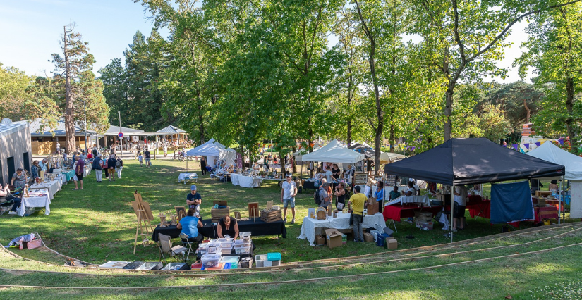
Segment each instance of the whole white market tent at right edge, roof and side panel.
M570 218L582 218L582 157L559 149L551 142L526 153L535 158L566 166L564 179L570 181Z

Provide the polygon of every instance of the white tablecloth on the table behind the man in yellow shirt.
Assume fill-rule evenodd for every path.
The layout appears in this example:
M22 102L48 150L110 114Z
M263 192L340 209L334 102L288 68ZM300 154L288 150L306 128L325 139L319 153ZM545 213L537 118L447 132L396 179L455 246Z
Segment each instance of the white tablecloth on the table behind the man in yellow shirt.
M349 229L350 226L350 213L337 213L337 218L327 216L325 220L317 220L305 217L303 218L303 225L301 225L301 233L298 239L307 239L311 246L315 246L315 228L335 228L335 229ZM382 213L376 213L375 215L364 215L363 228L370 227L386 227L384 222L384 216Z

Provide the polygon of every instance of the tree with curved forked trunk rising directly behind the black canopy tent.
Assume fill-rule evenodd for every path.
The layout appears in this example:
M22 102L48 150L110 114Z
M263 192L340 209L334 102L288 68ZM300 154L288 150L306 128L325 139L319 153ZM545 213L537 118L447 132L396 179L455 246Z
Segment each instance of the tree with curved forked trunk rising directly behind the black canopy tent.
M424 43L433 49L431 63L447 83L444 85L444 139L453 132L452 108L455 87L461 78L466 81L491 75L504 75L506 70L495 67L508 46L507 34L520 20L542 11L577 3L547 1L413 1L416 11L416 30Z

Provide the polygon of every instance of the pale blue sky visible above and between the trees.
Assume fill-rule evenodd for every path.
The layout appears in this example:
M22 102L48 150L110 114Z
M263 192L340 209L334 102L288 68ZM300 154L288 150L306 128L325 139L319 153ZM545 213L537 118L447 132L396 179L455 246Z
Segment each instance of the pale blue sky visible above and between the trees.
M48 60L52 53L61 53L63 25L74 22L75 30L89 42L97 73L112 59L123 58L123 50L137 30L150 35L152 23L147 15L143 6L132 0L0 0L0 63L28 75L50 74L53 64ZM509 37L514 45L506 49L499 67L511 67L521 54L519 44L527 38L524 27L525 23L514 25ZM519 76L512 68L505 80L496 80L514 82Z

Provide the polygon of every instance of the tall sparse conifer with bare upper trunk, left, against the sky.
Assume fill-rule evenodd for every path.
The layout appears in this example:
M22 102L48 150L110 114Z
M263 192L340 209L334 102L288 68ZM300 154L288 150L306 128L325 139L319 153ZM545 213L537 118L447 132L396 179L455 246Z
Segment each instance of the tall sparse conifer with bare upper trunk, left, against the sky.
M109 106L104 101L102 95L102 85L95 81L95 75L92 73L92 65L95 59L87 48L87 42L81 40L81 35L74 32L74 25L63 26L63 40L61 49L63 56L52 54L52 62L55 64L54 84L58 85L63 92L64 101L61 101L65 119L65 139L66 149L75 149L75 112L76 100L81 99L87 102L87 106L94 115L87 114L88 128L90 124L95 124L99 131L107 130L109 123L107 117L103 118L102 113L109 115ZM61 96L62 97L62 96ZM83 105L78 106L77 110L83 110ZM98 111L98 112L97 112ZM96 116L97 118L91 118Z

